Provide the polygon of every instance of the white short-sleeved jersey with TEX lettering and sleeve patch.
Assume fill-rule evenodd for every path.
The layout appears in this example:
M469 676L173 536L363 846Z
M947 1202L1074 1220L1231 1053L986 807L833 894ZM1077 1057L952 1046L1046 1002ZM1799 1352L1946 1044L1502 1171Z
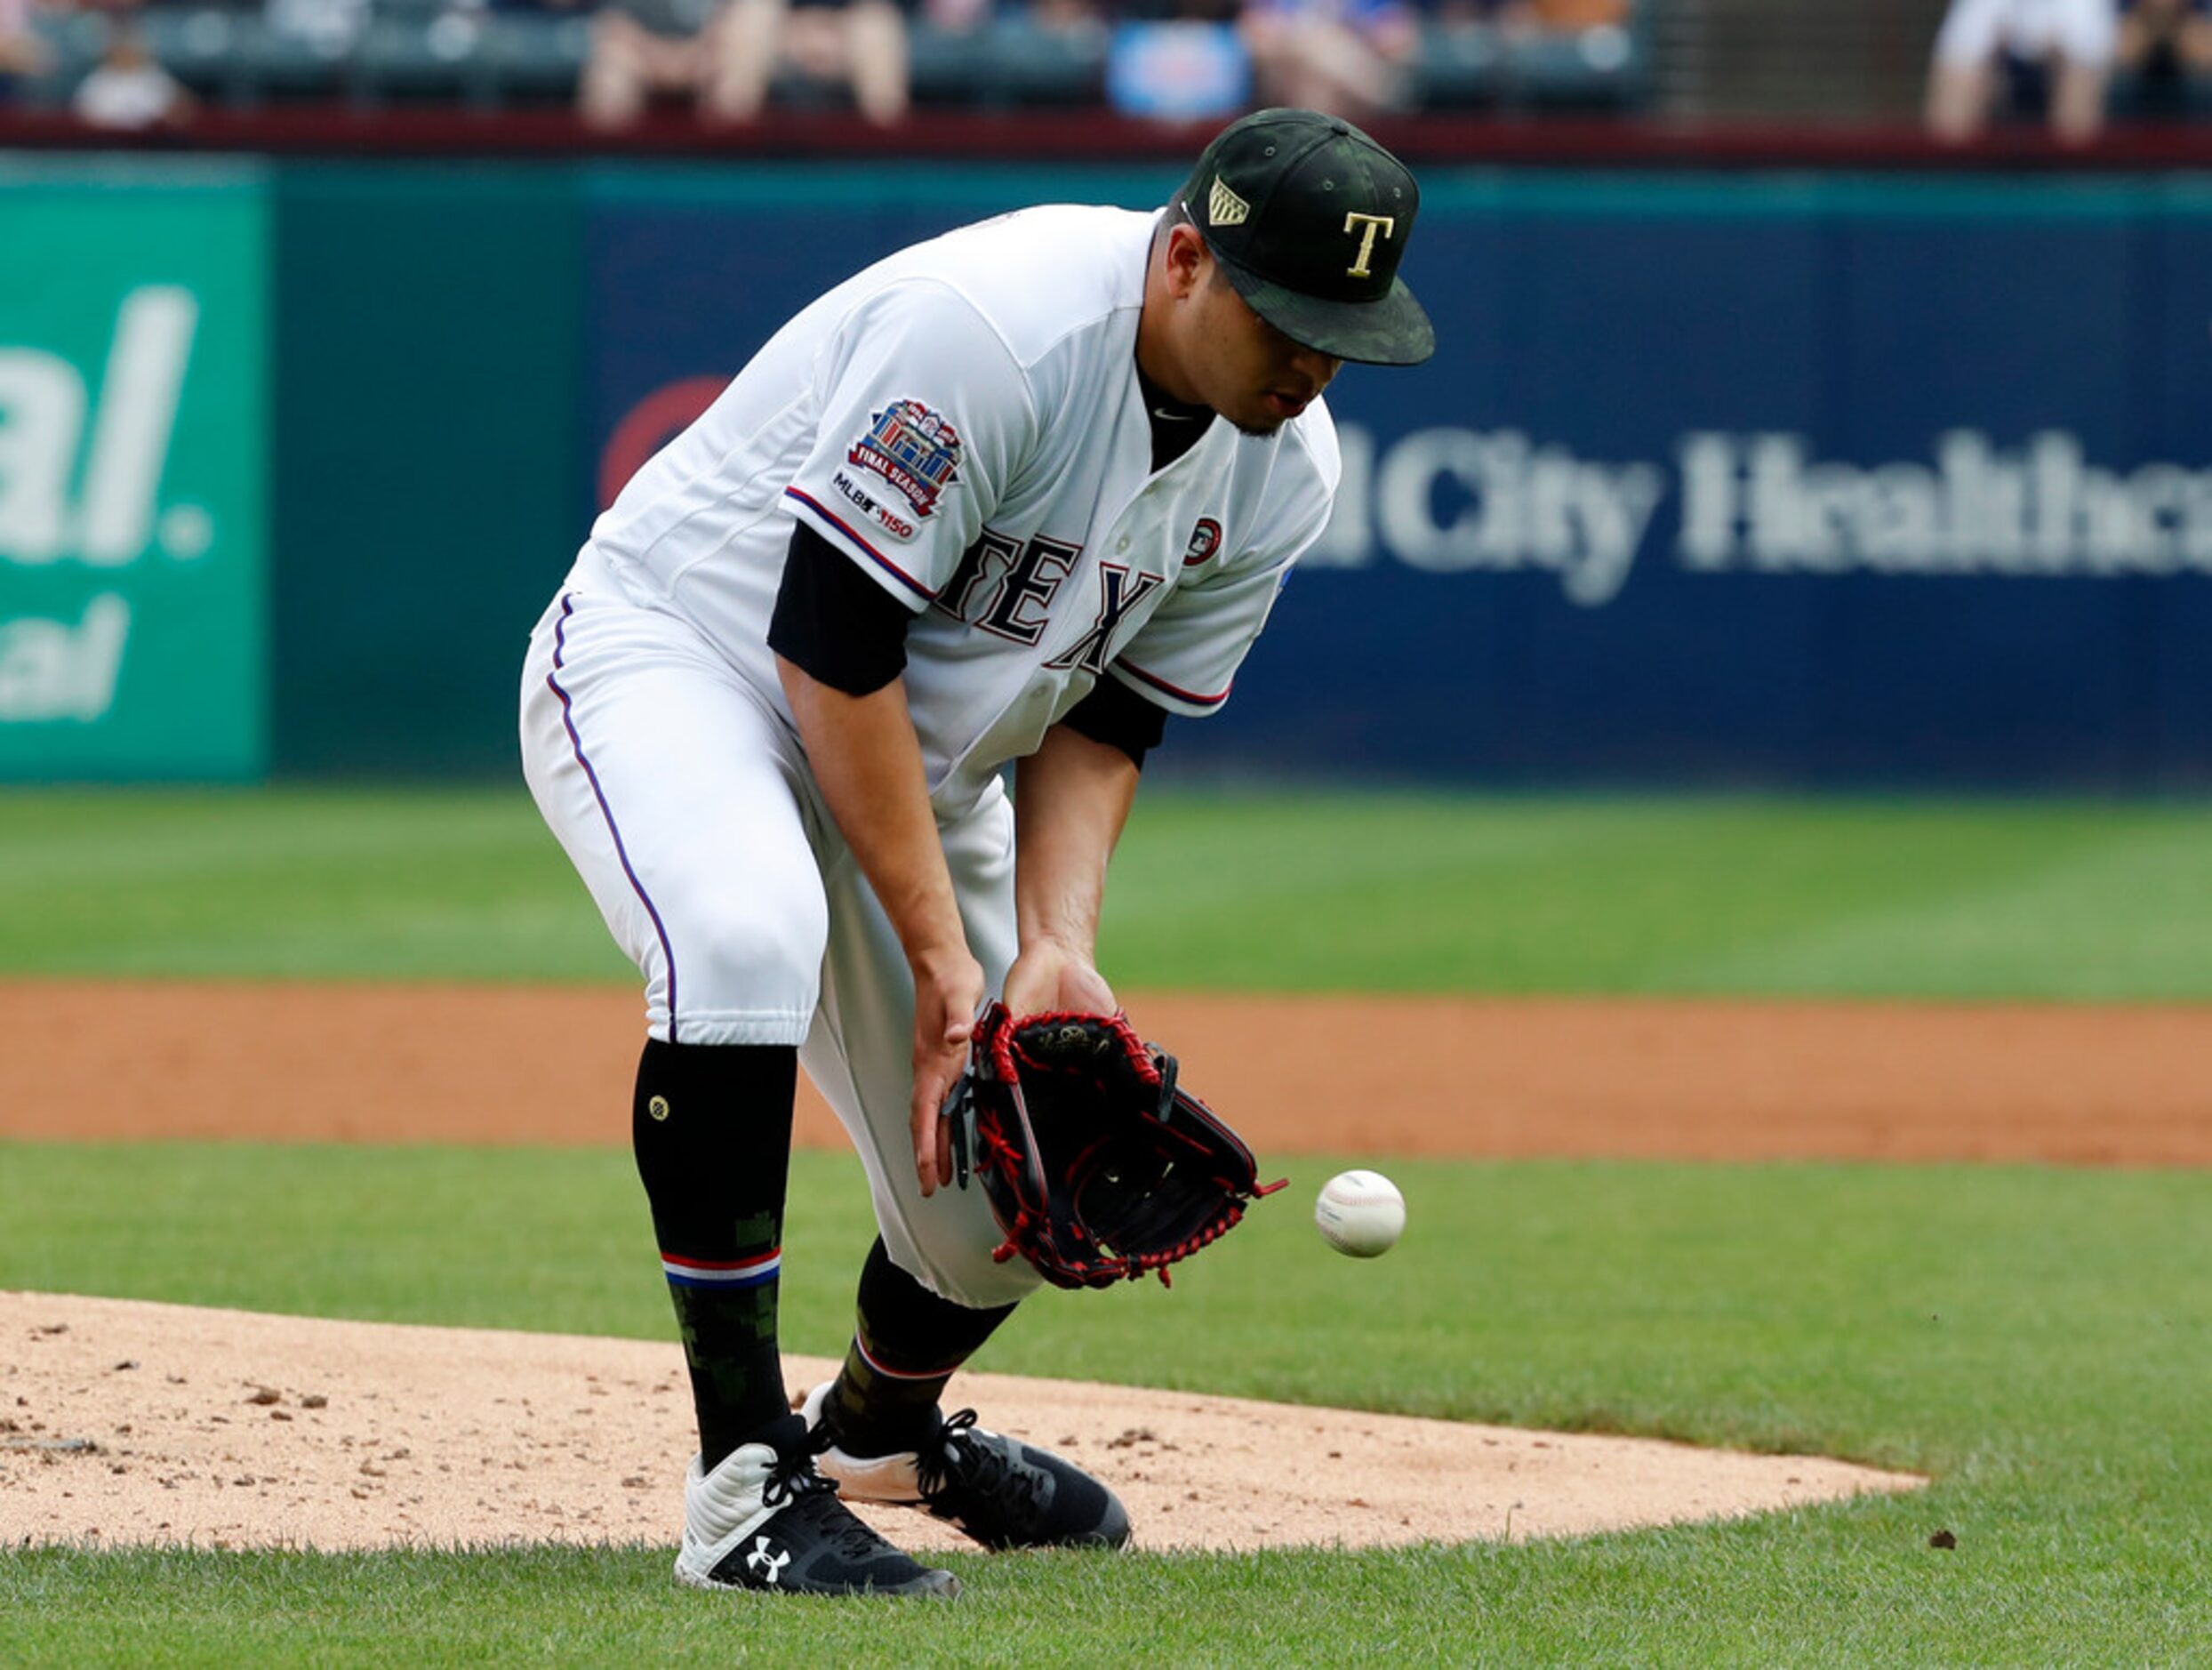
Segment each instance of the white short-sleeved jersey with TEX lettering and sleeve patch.
M1228 697L1336 491L1314 400L1214 420L1152 476L1137 312L1157 217L1002 215L867 268L792 319L591 531L772 703L792 518L916 610L907 699L931 799L969 805L1102 672L1201 714Z

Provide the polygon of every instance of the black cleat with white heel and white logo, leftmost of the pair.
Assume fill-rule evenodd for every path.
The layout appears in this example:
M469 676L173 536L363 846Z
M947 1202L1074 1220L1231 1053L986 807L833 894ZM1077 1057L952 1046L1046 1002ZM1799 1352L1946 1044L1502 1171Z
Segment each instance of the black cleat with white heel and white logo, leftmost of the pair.
M796 1427L796 1422L794 1422ZM936 1595L960 1579L909 1559L854 1517L803 1442L779 1455L741 1444L712 1473L684 1475L677 1582L783 1595Z

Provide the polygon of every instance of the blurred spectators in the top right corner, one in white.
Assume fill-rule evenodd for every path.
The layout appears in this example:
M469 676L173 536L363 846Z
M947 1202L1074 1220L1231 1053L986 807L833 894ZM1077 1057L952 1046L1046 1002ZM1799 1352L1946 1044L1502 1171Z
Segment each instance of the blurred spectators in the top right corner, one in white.
M2212 115L2212 0L1951 0L1929 66L1929 131Z

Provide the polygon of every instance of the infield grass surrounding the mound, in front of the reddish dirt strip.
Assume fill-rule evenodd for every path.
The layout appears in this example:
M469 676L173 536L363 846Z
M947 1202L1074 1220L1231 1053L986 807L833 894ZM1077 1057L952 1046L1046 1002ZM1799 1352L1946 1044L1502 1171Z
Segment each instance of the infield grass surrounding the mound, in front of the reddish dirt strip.
M883 1612L677 1595L664 1548L15 1551L0 1659L2132 1666L2212 1639L2212 1177L1400 1163L1413 1228L1356 1263L1305 1221L1336 1163L1301 1161L1172 1292L1044 1294L984 1365L1825 1449L1936 1484L1544 1546L978 1555L956 1608ZM664 1338L641 1217L606 1152L0 1148L11 1287ZM801 1155L794 1349L843 1343L867 1234L854 1161Z

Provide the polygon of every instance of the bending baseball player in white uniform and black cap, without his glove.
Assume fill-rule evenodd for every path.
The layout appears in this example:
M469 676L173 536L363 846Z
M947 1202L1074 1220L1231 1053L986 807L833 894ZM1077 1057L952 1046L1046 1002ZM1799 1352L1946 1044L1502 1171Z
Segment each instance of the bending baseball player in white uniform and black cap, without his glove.
M894 254L630 480L540 619L524 774L646 982L633 1141L699 1418L681 1582L956 1590L843 1497L989 1548L1128 1539L1102 1482L940 1413L1037 1272L991 1259L938 1108L987 998L1115 1006L1093 944L1146 750L1221 706L1321 533L1340 363L1433 349L1396 276L1416 208L1360 131L1261 111L1166 210ZM794 1411L801 1064L878 1239Z

